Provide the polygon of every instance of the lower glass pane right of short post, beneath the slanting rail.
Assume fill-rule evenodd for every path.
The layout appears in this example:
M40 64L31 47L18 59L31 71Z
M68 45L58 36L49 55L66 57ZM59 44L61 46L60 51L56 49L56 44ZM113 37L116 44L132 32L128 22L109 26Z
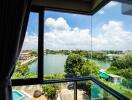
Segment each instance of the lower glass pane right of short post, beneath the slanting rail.
M77 82L77 100L117 100L92 81Z

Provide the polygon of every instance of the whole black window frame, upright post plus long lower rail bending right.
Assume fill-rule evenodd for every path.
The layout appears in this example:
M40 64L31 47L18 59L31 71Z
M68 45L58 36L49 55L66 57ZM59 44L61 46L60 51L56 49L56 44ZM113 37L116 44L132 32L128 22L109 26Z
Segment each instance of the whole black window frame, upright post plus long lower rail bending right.
M51 10L52 11L52 10ZM66 79L53 79L53 80L45 80L43 78L43 51L44 51L44 13L45 9L43 7L33 7L31 8L31 12L35 12L39 14L38 21L38 74L37 78L26 78L26 79L12 79L12 86L23 86L23 85L36 85L36 84L54 84L54 83L63 83L63 82L74 82L74 100L77 100L77 82L78 81L88 81L91 80L99 85L101 88L109 92L111 95L116 97L119 100L129 100L126 96L118 93L112 88L108 87L104 83L100 82L96 78L92 76L87 77L78 77L78 78L66 78ZM59 11L63 12L63 11Z

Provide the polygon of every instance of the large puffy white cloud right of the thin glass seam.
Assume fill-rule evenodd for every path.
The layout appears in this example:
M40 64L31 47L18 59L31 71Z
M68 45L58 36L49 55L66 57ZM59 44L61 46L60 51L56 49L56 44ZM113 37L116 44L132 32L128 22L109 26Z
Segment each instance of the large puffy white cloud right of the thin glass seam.
M120 21L109 21L101 27L101 33L93 37L94 49L128 50L132 49L132 32L123 28Z

